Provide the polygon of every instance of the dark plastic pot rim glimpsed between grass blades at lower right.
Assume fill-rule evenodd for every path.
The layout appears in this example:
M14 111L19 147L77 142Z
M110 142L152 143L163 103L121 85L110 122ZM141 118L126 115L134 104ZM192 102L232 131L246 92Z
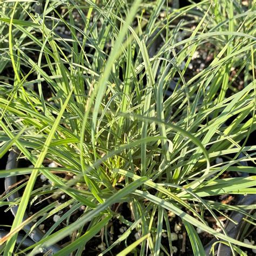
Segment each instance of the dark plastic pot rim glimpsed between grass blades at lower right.
M243 157L244 154L240 154L239 158ZM241 165L248 166L246 161L241 161ZM241 176L247 176L246 173L242 173ZM238 195L236 198L236 204L238 205L251 205L256 203L256 197L253 194L249 194L247 196ZM230 218L236 221L238 224L235 225L232 221L227 221L225 225L226 232L229 237L234 239L239 239L241 226L243 224L244 215L239 212L232 212ZM206 255L210 255L211 247L214 242L217 242L217 239L212 239L206 246L205 246L205 253ZM214 247L217 256L232 256L232 251L229 246L222 244L221 242L215 245Z

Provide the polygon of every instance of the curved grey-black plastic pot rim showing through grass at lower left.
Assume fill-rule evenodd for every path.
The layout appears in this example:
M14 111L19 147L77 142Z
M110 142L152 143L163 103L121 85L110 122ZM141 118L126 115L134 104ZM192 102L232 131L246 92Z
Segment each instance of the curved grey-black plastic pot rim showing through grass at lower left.
M18 166L18 161L17 161L17 153L16 152L14 152L14 151L11 151L10 153L9 153L9 156L8 156L8 160L7 160L7 164L6 164L6 170L11 170L11 169L15 169L15 168L17 168L17 166ZM9 187L12 187L12 185L14 185L14 184L16 184L17 183L17 176L12 176L12 177L7 177L7 178L5 178L5 182L4 182L4 184L5 184L5 190L8 190L9 189ZM19 197L19 194L17 193L17 192L15 192L15 193L12 193L11 195L10 195L10 197L8 197L8 201L15 201L15 199L16 198L18 198ZM17 211L18 211L18 206L14 206L14 207L11 207L11 212L12 212L12 214L15 216L16 214L17 214ZM28 215L28 213L26 213L25 212L25 214L24 214L24 217L23 217L23 220L25 220L25 219L28 219L29 218L29 215ZM42 238L43 238L43 236L44 236L44 233L41 231L41 230L39 230L39 228L33 228L33 230L31 231L31 229L32 229L32 226L33 226L33 224L28 224L28 225L26 225L25 227L24 227L24 231L25 232L27 232L27 233L29 233L29 237L34 241L34 242L39 242L39 241L41 241L42 240ZM30 232L31 231L31 232ZM4 232L2 231L1 233L0 233L0 235L3 235L4 234ZM17 240L17 241L19 241L19 240ZM23 245L28 245L28 240L25 240L24 242L23 242ZM32 242L32 241L30 241L30 242ZM26 243L26 244L25 244ZM30 244L31 245L31 244ZM49 250L51 250L51 252L52 253L56 253L56 252L58 252L59 250L61 250L62 249L62 247L60 247L59 245L57 245L57 244L55 244L55 245L52 245L51 247L49 247L49 248L44 248L44 251L46 252L46 251L49 251Z

